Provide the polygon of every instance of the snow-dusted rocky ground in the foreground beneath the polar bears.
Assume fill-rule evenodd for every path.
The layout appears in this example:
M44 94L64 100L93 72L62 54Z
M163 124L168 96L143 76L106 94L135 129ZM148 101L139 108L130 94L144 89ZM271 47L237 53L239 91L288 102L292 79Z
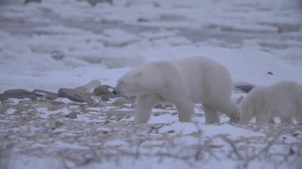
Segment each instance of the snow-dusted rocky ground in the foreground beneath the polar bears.
M156 105L149 124L134 125L135 98L112 98L110 87L98 81L70 90L91 100L73 101L71 95L49 97L56 93L41 92L36 98L22 98L19 90L19 98L2 99L1 169L12 168L14 159L23 156L51 157L60 168L109 162L123 166L125 158L134 164L142 158L155 158L157 163L174 159L192 168L226 160L237 168L261 161L276 168L294 168L301 162L299 124L238 126L228 124L222 115L220 125L206 125L201 105L196 105L194 123L179 123L173 106ZM233 95L244 93L234 90Z

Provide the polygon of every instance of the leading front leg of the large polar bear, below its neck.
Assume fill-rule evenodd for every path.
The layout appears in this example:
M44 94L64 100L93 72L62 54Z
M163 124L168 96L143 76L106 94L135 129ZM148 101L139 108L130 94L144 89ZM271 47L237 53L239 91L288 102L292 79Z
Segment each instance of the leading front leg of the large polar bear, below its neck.
M155 103L162 101L162 98L157 93L152 93L148 95L140 95L137 98L134 122L147 123L151 117L151 110Z

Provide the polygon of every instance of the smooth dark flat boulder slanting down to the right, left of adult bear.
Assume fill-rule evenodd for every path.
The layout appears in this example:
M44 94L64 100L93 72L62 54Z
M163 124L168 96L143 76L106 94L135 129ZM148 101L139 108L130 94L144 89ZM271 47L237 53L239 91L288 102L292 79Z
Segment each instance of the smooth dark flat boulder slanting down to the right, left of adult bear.
M94 100L85 93L71 88L60 88L58 95L59 97L66 97L76 102L86 102L88 104L94 103Z

